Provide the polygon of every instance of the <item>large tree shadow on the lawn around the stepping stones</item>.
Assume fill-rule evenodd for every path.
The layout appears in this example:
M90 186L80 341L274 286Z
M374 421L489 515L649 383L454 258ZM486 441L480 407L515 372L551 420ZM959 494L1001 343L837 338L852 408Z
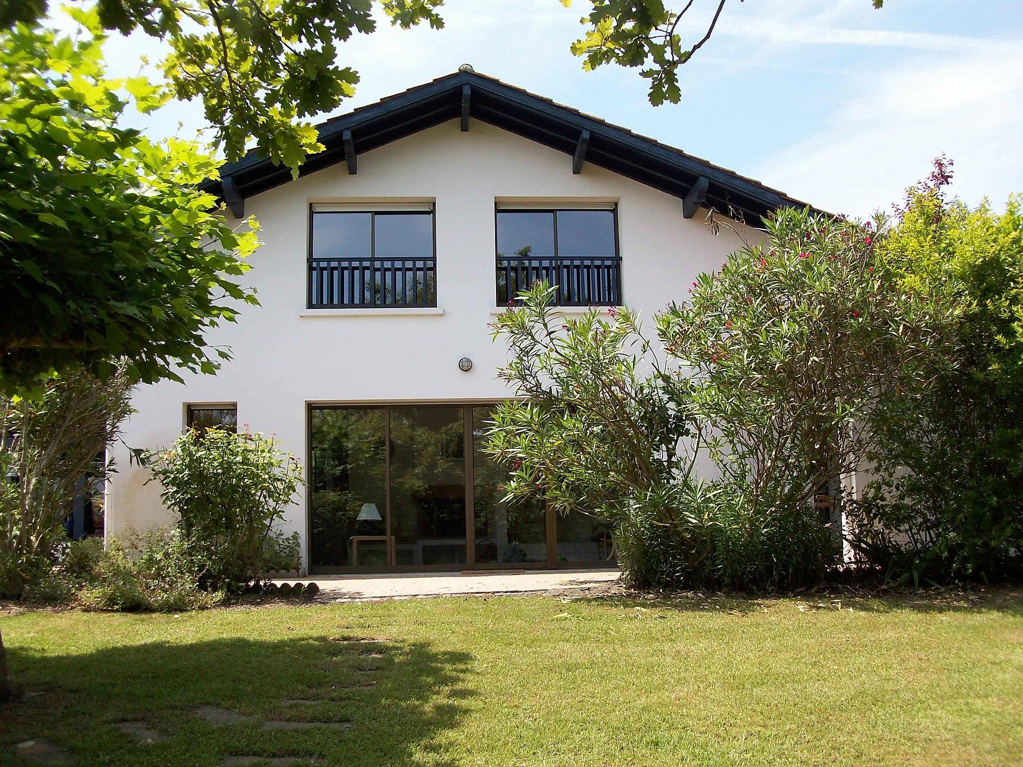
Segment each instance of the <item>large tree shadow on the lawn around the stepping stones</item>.
M81 765L219 767L226 757L259 756L445 767L454 763L438 737L458 725L475 694L463 686L469 653L363 636L8 655L28 689L46 691L0 712L0 764L12 759L13 743L46 738ZM203 706L250 718L217 725L194 714ZM117 728L123 721L144 721L164 739L139 745ZM268 721L348 724L259 731Z

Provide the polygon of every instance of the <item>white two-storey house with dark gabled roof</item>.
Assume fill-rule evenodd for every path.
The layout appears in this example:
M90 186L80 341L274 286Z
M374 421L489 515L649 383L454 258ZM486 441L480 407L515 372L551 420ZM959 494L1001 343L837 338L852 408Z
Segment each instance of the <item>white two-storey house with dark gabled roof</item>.
M606 563L597 521L501 501L479 445L509 395L489 323L536 275L566 315L650 318L802 204L469 66L319 132L298 179L250 155L211 182L260 221L261 306L211 334L233 356L217 375L136 391L106 533L171 522L129 446L248 424L304 462L285 532L314 573Z

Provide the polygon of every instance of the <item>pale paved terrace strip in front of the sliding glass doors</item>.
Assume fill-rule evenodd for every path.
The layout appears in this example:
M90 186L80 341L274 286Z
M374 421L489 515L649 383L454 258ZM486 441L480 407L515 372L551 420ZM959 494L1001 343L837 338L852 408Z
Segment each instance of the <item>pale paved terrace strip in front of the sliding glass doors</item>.
M315 583L321 601L411 599L464 594L517 594L610 586L621 576L617 568L453 573L385 573L284 578L274 583Z

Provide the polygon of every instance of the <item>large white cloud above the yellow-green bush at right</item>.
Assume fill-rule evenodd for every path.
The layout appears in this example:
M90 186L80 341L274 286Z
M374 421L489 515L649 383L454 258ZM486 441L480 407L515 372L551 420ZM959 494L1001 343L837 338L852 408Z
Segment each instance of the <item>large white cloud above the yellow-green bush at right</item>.
M854 81L845 106L753 175L836 213L869 215L902 197L945 152L952 190L1002 205L1023 189L1023 41L915 61Z

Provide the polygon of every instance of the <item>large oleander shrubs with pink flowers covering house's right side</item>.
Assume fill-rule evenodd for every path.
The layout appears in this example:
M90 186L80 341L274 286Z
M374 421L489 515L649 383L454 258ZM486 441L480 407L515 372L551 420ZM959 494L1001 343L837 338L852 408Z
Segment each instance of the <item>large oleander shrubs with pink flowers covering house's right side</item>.
M535 285L494 323L523 400L494 412L487 451L510 499L608 520L637 585L794 587L836 561L818 494L841 496L871 418L928 390L950 310L902 294L877 234L783 210L766 242L700 275L656 315L658 345L612 309L559 320ZM709 457L714 479L699 479Z

